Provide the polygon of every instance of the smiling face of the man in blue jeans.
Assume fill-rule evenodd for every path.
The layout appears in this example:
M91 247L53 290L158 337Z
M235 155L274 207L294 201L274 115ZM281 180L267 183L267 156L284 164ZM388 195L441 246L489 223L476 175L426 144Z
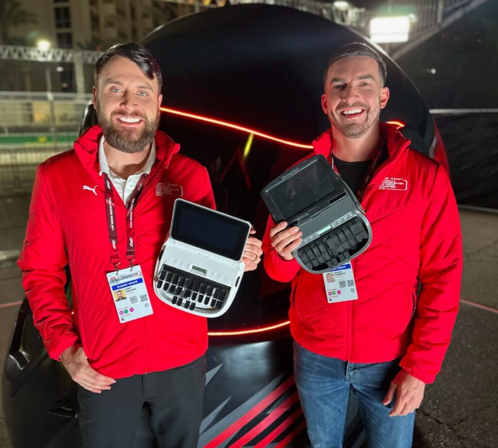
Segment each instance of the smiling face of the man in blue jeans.
M347 138L360 138L378 123L389 99L377 62L368 56L345 57L327 72L322 109L333 128Z

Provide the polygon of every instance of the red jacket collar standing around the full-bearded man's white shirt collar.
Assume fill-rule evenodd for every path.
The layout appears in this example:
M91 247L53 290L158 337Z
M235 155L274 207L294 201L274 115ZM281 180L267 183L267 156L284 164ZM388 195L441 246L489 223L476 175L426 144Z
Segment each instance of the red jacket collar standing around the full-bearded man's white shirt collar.
M99 141L102 136L102 128L99 125L91 126L81 134L74 142L74 151L80 162L90 171L99 174ZM155 135L156 160L155 165L167 167L173 154L180 150L180 145L175 143L164 132L157 130ZM152 168L154 170L154 167Z

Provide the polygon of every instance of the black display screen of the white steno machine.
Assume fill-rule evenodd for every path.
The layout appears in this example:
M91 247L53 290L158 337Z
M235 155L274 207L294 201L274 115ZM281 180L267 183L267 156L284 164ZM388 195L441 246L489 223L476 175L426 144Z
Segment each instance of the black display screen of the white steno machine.
M173 239L239 261L250 226L244 221L186 201L175 202Z

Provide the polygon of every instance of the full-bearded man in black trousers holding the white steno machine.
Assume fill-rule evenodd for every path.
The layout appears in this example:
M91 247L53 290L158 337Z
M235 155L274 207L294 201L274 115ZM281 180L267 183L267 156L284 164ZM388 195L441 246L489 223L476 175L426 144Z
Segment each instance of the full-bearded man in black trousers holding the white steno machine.
M152 279L174 200L215 207L208 173L157 130L162 77L148 50L110 48L94 81L100 125L38 167L23 286L49 355L78 384L84 446L131 446L147 405L160 447L197 447L207 322L165 306ZM246 270L260 244L249 238ZM131 306L114 300L117 274Z

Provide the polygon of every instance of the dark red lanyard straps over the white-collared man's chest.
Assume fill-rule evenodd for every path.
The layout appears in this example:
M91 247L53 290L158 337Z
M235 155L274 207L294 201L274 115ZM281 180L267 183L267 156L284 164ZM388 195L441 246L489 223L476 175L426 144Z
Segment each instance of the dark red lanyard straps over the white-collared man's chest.
M107 173L102 173L104 176L104 193L106 197L106 211L107 211L107 226L109 230L109 242L111 244L111 263L114 265L116 272L119 270L120 254L118 252L118 230L116 225L116 206L114 202L114 192L111 179ZM135 244L133 238L135 237L135 228L133 225L133 213L138 202L140 193L147 180L147 173L143 173L138 179L138 182L131 193L131 196L126 207L126 260L129 261L129 266L133 269L133 262L135 261Z

